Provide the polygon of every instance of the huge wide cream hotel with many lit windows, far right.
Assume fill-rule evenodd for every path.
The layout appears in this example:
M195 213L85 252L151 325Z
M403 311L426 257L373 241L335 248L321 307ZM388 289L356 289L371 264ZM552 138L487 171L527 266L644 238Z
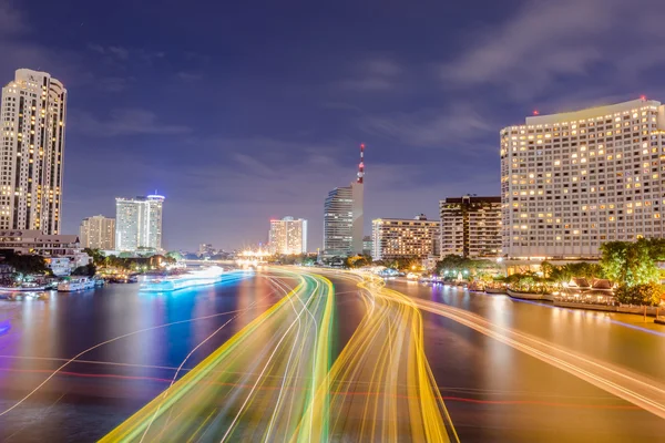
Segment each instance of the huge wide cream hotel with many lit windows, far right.
M663 237L665 106L654 100L526 117L501 131L503 253L597 257Z

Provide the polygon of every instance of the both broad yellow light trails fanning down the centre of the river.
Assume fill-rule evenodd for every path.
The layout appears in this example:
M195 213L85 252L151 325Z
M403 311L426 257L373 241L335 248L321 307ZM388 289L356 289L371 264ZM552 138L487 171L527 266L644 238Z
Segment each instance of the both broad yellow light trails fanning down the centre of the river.
M336 275L358 284L366 312L332 363L330 280L264 276L284 297L102 442L458 441L408 297Z

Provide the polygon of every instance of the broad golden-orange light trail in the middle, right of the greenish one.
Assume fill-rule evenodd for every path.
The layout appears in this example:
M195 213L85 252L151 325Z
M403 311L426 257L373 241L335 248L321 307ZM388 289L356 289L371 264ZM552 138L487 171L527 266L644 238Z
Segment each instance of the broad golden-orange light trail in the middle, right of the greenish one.
M366 315L313 403L329 414L314 441L458 441L424 357L420 310L380 279L335 278L358 284Z

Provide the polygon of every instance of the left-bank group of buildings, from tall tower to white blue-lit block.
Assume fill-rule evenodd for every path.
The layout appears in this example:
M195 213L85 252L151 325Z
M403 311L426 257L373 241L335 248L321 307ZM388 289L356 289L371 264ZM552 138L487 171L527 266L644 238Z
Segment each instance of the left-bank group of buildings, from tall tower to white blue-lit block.
M80 235L61 233L66 100L62 82L28 69L2 89L0 249L43 256L57 275L89 264L86 247L161 250L157 195L117 198L115 219L89 217Z

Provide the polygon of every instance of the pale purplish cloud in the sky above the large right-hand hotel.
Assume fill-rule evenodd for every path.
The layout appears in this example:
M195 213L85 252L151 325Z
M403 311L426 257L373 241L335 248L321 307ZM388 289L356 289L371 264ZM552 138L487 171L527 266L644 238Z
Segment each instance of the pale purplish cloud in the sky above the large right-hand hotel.
M446 63L441 78L450 87L507 86L516 99L570 76L600 74L622 84L662 63L654 54L663 49L663 20L659 0L524 2Z

